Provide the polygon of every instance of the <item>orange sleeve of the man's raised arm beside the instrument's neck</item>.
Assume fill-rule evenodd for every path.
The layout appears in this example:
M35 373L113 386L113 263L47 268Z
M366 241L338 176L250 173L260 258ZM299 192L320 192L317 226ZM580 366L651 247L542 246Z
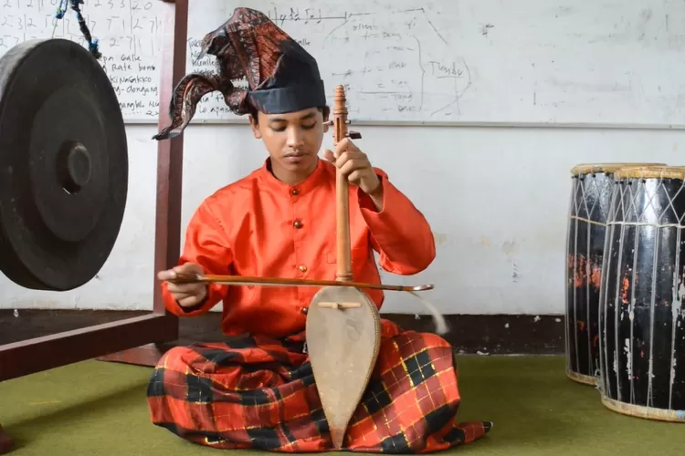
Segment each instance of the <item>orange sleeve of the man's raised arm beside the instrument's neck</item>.
M385 171L374 168L383 186L383 208L358 189L359 207L371 232L371 243L381 266L396 275L414 275L425 270L436 257L436 244L426 217L405 194L388 180Z

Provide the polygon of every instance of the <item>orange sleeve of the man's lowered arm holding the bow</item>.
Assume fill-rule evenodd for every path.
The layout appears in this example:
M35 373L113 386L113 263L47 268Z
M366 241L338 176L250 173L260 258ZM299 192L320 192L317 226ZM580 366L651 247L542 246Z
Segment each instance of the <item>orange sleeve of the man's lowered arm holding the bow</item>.
M205 274L230 275L233 252L227 242L224 226L205 200L195 211L185 232L184 251L178 265L195 263L205 270ZM205 300L193 307L182 307L168 291L166 282L162 283L163 302L166 309L175 316L198 316L205 314L227 295L227 285L208 286Z

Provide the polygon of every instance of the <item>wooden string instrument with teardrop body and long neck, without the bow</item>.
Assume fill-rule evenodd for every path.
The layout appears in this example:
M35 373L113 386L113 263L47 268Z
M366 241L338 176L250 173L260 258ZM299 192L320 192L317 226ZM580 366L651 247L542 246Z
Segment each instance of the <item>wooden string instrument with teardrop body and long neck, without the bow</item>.
M344 88L335 88L334 143L348 136ZM349 191L346 176L336 175L337 274L353 280L350 252ZM374 371L381 347L381 319L371 298L353 286L325 286L307 310L307 350L333 447L342 448L347 426Z

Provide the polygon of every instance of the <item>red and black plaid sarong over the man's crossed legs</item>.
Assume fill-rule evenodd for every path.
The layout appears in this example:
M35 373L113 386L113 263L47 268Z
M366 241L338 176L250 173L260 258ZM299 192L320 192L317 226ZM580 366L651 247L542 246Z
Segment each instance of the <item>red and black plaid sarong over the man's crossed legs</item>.
M395 327L384 321L384 328ZM487 421L456 421L452 347L434 334L384 338L374 376L356 409L343 451L425 453L485 435ZM153 423L222 449L331 451L332 442L303 334L238 337L174 347L148 386Z

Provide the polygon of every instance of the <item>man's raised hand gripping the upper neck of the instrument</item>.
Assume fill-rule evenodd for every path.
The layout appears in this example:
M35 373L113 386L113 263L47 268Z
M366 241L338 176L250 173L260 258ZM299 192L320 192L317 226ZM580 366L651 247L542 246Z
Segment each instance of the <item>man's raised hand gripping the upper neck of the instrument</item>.
M358 185L363 192L378 196L382 192L378 179L366 154L357 148L349 138L344 138L335 146L335 153L324 150L323 156L331 161L347 177L347 181Z

